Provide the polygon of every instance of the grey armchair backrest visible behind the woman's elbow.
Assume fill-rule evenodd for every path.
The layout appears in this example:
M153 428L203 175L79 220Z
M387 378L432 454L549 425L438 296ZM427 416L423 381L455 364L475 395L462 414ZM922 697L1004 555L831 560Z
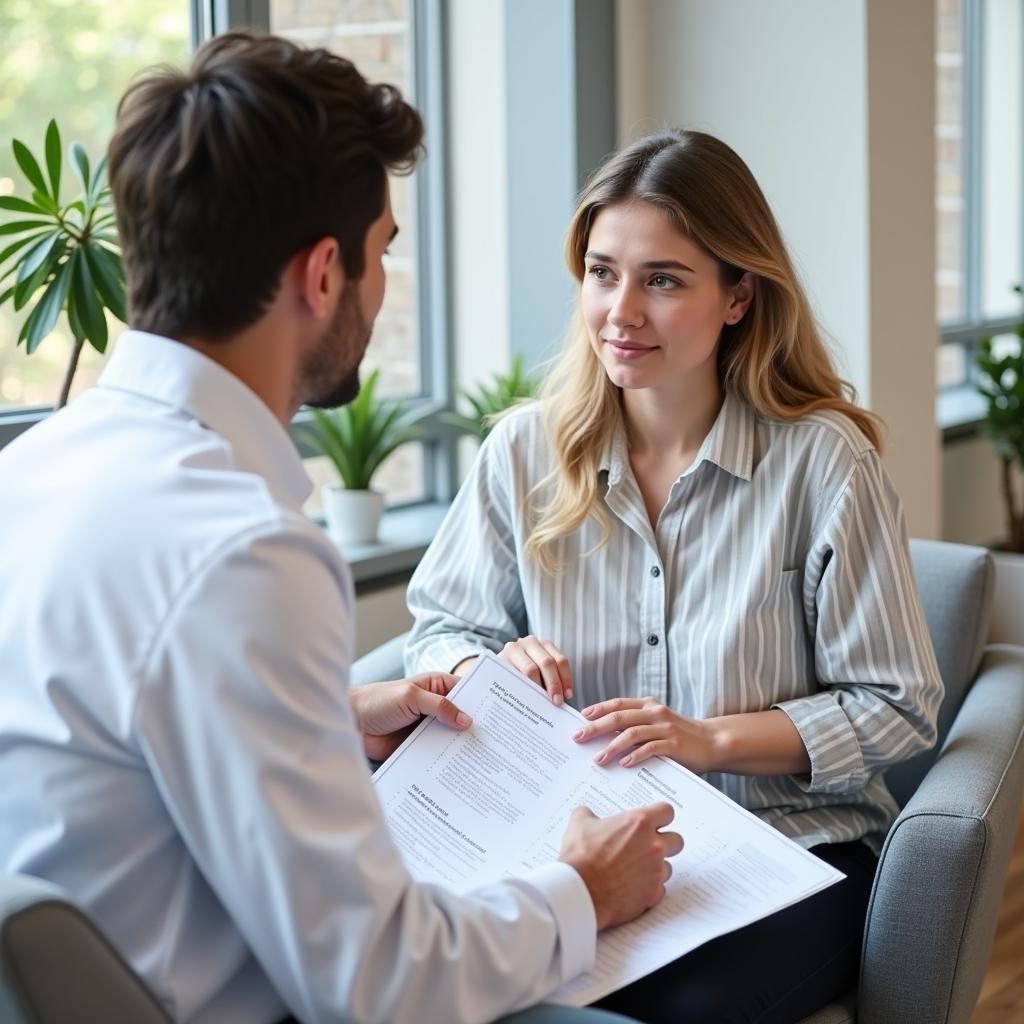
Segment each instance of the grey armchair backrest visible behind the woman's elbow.
M886 772L886 782L901 807L935 761L977 674L995 586L992 556L984 548L914 540L910 542L910 558L945 695L939 708L935 746Z

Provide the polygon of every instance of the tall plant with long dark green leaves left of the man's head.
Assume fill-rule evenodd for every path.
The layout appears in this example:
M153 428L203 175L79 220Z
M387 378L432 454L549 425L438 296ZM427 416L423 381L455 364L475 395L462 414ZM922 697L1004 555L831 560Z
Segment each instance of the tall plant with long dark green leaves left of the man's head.
M0 250L0 305L29 309L16 344L34 352L52 331L61 310L68 313L75 344L60 387L57 408L66 404L86 341L106 348L104 309L124 322L124 269L111 191L104 183L106 158L90 171L85 150L72 142L68 159L82 191L60 202L61 143L55 121L46 129L46 174L29 147L12 142L14 160L32 186L31 200L0 196L0 210L16 214L0 224L0 237L14 241ZM5 267L6 264L6 267ZM13 282L10 279L13 278Z

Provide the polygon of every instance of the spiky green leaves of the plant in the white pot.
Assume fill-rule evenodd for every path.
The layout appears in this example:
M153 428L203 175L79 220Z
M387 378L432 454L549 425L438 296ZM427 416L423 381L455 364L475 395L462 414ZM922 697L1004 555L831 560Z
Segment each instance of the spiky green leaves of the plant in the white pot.
M334 463L349 490L369 490L381 463L395 449L423 435L403 403L377 397L380 371L362 382L354 401L341 409L312 410L315 429L306 439Z

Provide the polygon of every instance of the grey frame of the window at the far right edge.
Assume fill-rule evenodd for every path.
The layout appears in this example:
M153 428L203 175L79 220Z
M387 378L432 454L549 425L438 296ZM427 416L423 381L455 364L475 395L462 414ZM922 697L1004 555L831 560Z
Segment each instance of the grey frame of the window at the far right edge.
M938 344L956 345L964 350L966 377L956 384L938 389L937 410L939 424L945 439L973 436L984 419L985 401L977 392L978 373L975 358L983 338L1014 331L1024 319L1019 314L986 318L982 313L982 152L984 119L984 59L985 0L963 0L962 38L964 62L961 96L964 124L964 242L962 266L964 272L965 315L954 322L939 323ZM1021 74L1019 87L1024 93L1024 32L1021 34ZM1024 105L1024 104L1022 104ZM1024 123L1021 146L1024 151ZM1024 217L1019 225L1019 246L1024 257ZM1024 259L1022 259L1024 263Z

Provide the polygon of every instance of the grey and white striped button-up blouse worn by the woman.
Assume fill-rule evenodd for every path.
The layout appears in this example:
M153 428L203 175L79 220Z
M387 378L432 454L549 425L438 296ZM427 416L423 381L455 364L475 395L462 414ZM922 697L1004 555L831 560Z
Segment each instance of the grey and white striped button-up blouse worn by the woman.
M850 420L767 419L734 394L651 528L622 429L601 460L608 544L589 520L565 571L524 554L526 495L550 467L537 406L480 449L413 577L410 672L449 670L532 634L572 669L572 703L653 696L692 718L779 708L807 775L709 773L804 847L881 849L884 769L935 742L942 682L899 498Z

